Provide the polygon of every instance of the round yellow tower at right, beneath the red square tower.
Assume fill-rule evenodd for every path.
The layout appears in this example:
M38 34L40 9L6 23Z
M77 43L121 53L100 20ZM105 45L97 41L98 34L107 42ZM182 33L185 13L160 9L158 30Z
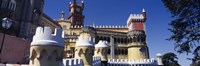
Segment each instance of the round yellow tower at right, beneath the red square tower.
M128 59L149 59L146 35L144 31L128 32Z

